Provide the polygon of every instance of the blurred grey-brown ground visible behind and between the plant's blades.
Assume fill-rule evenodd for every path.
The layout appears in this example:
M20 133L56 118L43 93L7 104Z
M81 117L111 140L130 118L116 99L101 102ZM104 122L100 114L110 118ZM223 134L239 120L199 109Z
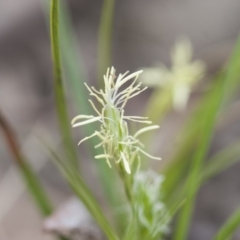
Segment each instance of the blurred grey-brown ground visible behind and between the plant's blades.
M102 1L67 2L82 60L79 65L94 84ZM113 63L118 73L150 67L156 62L169 66L170 49L179 36L187 36L193 44L194 58L204 60L207 65L205 80L208 81L208 76L225 64L239 34L240 1L118 0L113 24ZM50 54L42 0L1 0L0 110L15 129L23 151L33 161L48 193L59 205L71 192L35 136L39 131L46 131L56 145L59 143ZM148 95L146 92L130 102L127 111L141 112ZM172 112L162 123L155 151L159 151L163 160L174 151L175 133L191 112L197 96L198 91L191 97L186 111ZM216 134L211 152L240 136L240 120L231 119L231 116L236 119L239 112L239 99L232 106L235 114L229 116L230 124L224 131ZM70 116L76 113L77 109L71 109ZM0 135L0 239L52 239L43 233L42 220L12 163L13 157ZM239 171L240 164L236 164L201 189L189 239L209 239L237 207ZM88 176L89 182L94 185L92 176Z

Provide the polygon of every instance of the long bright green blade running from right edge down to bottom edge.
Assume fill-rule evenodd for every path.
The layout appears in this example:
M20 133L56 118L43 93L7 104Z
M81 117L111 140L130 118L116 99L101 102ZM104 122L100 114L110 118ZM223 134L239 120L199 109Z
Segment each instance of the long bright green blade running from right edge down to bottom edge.
M219 78L220 81L218 86L215 88L216 90L213 93L212 100L206 106L206 111L208 111L208 114L202 115L203 120L201 120L201 135L198 141L198 149L195 150L194 158L192 160L192 167L186 181L187 202L179 216L179 221L174 235L175 240L186 239L189 222L191 220L191 215L193 211L195 195L198 188L200 187L200 181L198 179L199 171L201 169L202 161L206 156L210 144L216 114L221 106L221 103L224 100L226 101L226 99L231 96L233 91L236 89L236 86L239 84L239 52L240 40L238 40L237 42L225 74L223 75L223 77Z

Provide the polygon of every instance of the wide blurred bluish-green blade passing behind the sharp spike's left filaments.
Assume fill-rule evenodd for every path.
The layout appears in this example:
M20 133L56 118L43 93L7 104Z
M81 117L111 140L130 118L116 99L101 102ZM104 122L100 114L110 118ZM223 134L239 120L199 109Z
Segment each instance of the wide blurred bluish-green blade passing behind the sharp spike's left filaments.
M86 81L85 74L83 74L83 69L80 67L81 61L76 54L77 44L75 40L74 31L72 29L72 24L70 16L67 9L67 4L65 0L60 0L60 44L63 55L64 62L64 72L67 76L66 86L70 87L71 94L74 97L77 109L80 111L80 114L92 115L93 110L91 105L87 101L88 95L85 91L85 86L83 82ZM79 66L80 65L80 66ZM79 113L78 113L79 114ZM84 135L89 136L96 130L96 125L87 124L83 128ZM94 159L94 156L99 155L99 149L96 149L94 146L98 144L97 139L90 139L86 145L90 157ZM116 193L113 191L114 184L114 175L113 171L102 161L95 161L101 184L103 190L106 193L106 199L112 204L115 205L116 202ZM111 179L111 181L109 181Z

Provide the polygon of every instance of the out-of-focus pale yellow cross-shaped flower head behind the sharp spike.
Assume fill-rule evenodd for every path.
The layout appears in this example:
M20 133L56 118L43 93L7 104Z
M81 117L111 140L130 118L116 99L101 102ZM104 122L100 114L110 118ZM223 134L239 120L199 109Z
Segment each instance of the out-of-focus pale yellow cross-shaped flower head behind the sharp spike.
M188 102L193 85L204 75L205 71L202 61L191 61L191 58L190 41L181 39L171 52L171 69L163 64L146 68L140 80L148 86L170 89L173 106L177 110L182 110Z

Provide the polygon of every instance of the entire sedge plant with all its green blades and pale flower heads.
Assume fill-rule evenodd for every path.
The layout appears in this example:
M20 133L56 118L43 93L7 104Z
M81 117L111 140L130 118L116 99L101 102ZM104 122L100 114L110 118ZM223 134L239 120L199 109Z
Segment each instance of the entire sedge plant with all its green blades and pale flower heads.
M47 146L51 156L73 193L85 204L107 239L165 240L171 238L172 235L174 240L186 240L198 190L209 178L239 160L238 141L211 158L208 157L208 151L218 118L224 115L227 100L233 95L234 89L239 86L240 41L237 42L229 64L213 79L208 86L210 90L199 99L198 106L186 124L187 127L183 127L180 131L181 144L170 159L170 164L156 172L145 169L146 164L141 165L141 162L148 158L160 160L158 156L151 155L148 150L153 138L143 138L146 141L144 142L141 141L142 136L150 133L153 135L159 128L158 123L167 116L170 109L184 111L194 85L205 72L205 65L202 61L191 61L192 47L189 41L184 39L178 42L172 51L170 69L161 65L145 69L145 72L137 71L131 74L126 72L119 75L113 67L106 69L112 65L111 36L115 1L105 0L99 28L99 66L98 84L96 84L102 89L85 83L90 96L95 99L90 99L89 103L86 103L86 94L78 95L75 92L80 114L70 121L65 87L71 84L83 86L83 82L79 80L77 85L73 85L76 83L76 77L74 80L71 79L72 81L64 79L65 76L69 78L76 76L77 67L76 64L71 64L69 67L73 62L69 53L74 51L70 46L73 44L66 44L67 40L69 42L69 39L75 38L70 38L71 31L67 34L69 38L64 36L64 31L61 34L59 32L59 19L62 19L60 24L66 24L68 21L66 11L65 18L60 16L60 3L59 0L51 1L50 29L54 96L64 152L60 155L55 149ZM65 39L65 44L61 43L61 39L62 41ZM65 72L62 63L67 68ZM102 76L106 70L106 74ZM146 116L126 115L127 102L147 88L142 87L141 81L155 88L146 107ZM84 91L81 90L81 92ZM84 106L82 106L83 103ZM133 132L130 122L134 126L139 124L145 124L145 126ZM2 120L0 123L3 125ZM87 134L92 131L78 144L88 144L87 149L91 152L89 155L97 163L96 167L101 168L99 170L100 180L102 185L108 189L106 199L114 194L122 198L118 202L119 206L116 206L115 202L115 205L112 204L109 207L114 213L117 212L116 207L123 209L124 214L121 217L113 214L117 219L116 223L119 223L119 219L125 223L121 231L118 231L119 226L116 226L112 219L105 216L98 199L81 176L77 144L72 138L71 126L73 128L88 127ZM12 135L9 135L9 131L6 130L6 124L2 128L9 145L13 147L12 151L17 161L21 163L19 164L20 171L29 185L29 192L42 213L50 214L52 206L47 194L32 169L25 165L25 159L19 149L15 148L17 145L12 141ZM98 139L97 143L96 139ZM12 143L14 144L11 145ZM119 181L115 181L116 176ZM125 197L119 194L121 189L125 192ZM230 239L240 225L239 216L238 210L229 217L213 239ZM175 218L174 225L171 224L173 218Z

